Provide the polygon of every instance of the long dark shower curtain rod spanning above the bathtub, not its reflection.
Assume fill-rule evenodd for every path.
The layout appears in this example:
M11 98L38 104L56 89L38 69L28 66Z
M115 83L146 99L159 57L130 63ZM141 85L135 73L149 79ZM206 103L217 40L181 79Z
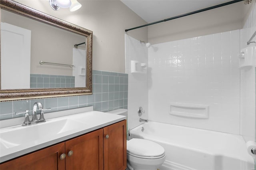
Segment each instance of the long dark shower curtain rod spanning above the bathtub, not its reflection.
M181 18L181 17L184 17L184 16L196 14L196 13L199 13L199 12L204 12L204 11L207 11L207 10L212 10L212 9L214 9L214 8L219 8L219 7L222 7L222 6L234 4L234 3L240 2L240 1L244 1L244 0L232 0L232 1L230 1L230 2L226 2L226 3L223 3L223 4L219 4L219 5L211 6L211 7L208 7L208 8L204 8L204 9L202 9L202 10L197 10L197 11L194 11L194 12L189 12L189 13L182 14L182 15L179 15L179 16L174 16L174 17L171 17L171 18L167 18L167 19L164 19L164 20L152 22L152 23L145 24L145 25L142 25L142 26L130 28L130 29L125 30L125 32L128 32L128 31L130 31L130 30L135 30L135 29L137 29L137 28L142 28L142 27L150 26L150 25L153 25L153 24L158 24L158 23L160 23L160 22L166 22L166 21L170 21L170 20L173 20L173 19L176 19L176 18Z

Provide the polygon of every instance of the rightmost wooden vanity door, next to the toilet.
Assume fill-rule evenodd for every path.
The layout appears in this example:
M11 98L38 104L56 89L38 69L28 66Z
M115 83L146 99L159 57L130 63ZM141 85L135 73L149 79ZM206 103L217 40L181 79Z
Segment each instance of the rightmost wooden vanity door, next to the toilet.
M104 170L125 170L126 120L115 123L113 125L109 125L107 127L104 127L103 129Z

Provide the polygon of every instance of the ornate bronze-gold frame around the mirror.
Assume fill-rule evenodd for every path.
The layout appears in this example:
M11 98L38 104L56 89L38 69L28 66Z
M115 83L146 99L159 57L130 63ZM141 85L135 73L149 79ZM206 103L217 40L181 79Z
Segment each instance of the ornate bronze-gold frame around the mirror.
M0 0L1 9L14 12L16 14L43 22L45 24L55 26L57 28L80 34L87 37L86 49L86 87L80 88L47 88L47 89L8 89L0 90L0 101L15 101L26 99L64 97L74 95L89 95L92 94L92 31L76 26L64 20L60 20L23 4L11 0ZM1 14L0 14L1 17ZM1 18L0 18L1 21ZM1 55L0 55L1 61ZM1 67L0 67L1 68ZM1 69L0 69L1 82ZM1 83L0 83L1 89Z

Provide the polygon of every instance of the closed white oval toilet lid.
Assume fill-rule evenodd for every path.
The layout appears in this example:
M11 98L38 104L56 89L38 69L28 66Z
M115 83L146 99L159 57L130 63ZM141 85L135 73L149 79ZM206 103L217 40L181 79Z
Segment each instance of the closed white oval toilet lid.
M127 153L137 156L155 157L162 156L164 148L150 140L132 138L127 141Z

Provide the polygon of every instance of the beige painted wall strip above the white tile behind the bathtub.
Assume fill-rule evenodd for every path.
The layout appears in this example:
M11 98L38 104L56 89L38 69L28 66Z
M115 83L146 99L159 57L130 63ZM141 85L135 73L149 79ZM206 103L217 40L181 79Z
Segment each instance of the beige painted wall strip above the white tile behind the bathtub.
M237 2L149 26L148 41L156 44L241 29L243 6L244 2Z

